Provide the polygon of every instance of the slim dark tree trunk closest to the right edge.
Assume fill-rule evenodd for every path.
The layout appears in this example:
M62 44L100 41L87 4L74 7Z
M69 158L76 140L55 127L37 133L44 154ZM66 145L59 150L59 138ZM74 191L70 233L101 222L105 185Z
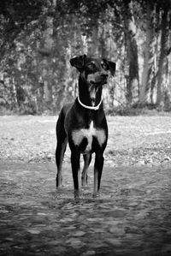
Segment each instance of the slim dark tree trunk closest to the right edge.
M157 73L157 92L156 105L161 108L163 105L163 90L166 75L167 64L167 46L168 46L168 7L164 6L162 10L162 35L161 35L161 51L159 57L158 73Z

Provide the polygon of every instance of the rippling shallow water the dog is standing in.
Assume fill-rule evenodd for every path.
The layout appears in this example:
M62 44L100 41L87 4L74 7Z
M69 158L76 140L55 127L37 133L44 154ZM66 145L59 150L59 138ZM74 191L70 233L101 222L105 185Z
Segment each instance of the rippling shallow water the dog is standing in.
M0 164L0 255L170 255L171 167L103 170L101 196L93 176L79 200L64 164Z

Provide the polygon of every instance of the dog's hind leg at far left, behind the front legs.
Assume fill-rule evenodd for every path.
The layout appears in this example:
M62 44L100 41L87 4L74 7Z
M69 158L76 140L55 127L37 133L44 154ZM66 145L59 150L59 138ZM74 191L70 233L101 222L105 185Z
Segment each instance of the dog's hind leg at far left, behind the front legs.
M57 124L56 124L56 166L57 166L57 175L56 175L56 187L62 186L62 161L64 153L66 151L68 138L64 129L64 115L61 112Z

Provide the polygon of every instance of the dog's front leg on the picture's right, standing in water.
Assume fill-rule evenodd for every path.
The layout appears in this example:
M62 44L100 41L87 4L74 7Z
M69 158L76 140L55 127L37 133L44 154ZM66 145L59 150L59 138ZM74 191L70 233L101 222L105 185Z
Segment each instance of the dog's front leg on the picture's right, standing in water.
M93 191L93 197L97 197L97 193L100 189L100 181L103 171L103 153L97 152L95 157L95 164L94 164L94 191Z

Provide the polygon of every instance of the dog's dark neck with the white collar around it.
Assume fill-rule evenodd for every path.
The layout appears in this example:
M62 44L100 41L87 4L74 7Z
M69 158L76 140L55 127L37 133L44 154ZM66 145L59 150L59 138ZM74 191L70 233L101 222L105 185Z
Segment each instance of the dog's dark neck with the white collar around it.
M95 98L91 98L88 82L81 76L79 78L79 102L90 110L98 110L102 103L102 86L98 86Z

